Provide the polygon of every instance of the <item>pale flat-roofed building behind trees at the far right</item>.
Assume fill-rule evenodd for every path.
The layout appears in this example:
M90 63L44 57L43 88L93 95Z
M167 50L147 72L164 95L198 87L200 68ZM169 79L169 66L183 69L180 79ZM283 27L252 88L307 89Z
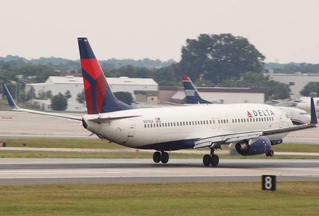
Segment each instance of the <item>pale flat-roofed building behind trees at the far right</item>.
M288 74L288 73L265 73L265 76L269 76L270 80L283 82L289 85L291 98L300 98L302 95L300 91L309 82L319 82L318 74ZM318 97L319 95L317 95Z

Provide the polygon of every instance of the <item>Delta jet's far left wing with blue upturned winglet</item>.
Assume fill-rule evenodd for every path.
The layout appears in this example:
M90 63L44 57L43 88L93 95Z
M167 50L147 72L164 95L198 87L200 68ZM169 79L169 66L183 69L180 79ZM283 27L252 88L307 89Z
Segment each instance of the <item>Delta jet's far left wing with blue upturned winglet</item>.
M68 119L68 120L73 120L73 121L82 121L82 117L80 117L80 116L47 113L47 112L41 112L41 111L20 108L14 103L12 96L11 96L10 92L8 91L8 89L6 88L4 83L2 83L2 87L3 87L4 94L6 96L6 99L8 101L8 104L12 110L34 113L34 114L39 114L39 115L44 115L44 116L51 116L51 117L55 117L55 118Z

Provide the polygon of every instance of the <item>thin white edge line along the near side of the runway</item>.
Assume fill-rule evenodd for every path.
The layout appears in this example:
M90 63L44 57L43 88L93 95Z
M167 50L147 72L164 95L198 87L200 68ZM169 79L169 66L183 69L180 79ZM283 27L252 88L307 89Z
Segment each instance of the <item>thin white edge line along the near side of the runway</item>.
M211 176L66 176L66 177L0 177L0 179L77 179L77 178L167 178L167 177L261 177L262 175L211 175ZM319 174L290 174L277 176L309 176L319 177Z

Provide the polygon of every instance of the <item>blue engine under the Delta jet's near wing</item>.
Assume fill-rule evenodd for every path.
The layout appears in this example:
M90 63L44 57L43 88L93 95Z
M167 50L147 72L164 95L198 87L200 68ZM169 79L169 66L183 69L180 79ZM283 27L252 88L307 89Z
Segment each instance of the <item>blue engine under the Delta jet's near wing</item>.
M247 140L236 143L236 151L243 155L262 155L270 151L271 142L268 137L259 137L258 140L252 144L248 144Z

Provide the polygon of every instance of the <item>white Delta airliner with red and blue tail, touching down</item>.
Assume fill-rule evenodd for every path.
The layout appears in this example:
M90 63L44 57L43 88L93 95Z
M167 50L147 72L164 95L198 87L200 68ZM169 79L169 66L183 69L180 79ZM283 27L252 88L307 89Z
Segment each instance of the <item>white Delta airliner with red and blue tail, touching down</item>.
M221 145L235 146L241 155L273 156L272 145L293 131L314 128L315 105L311 100L311 123L293 126L288 115L265 104L221 104L134 109L112 93L87 38L78 38L87 115L83 117L19 108L6 86L3 90L13 110L82 121L99 138L136 148L154 149L153 160L167 163L168 151L209 147L205 166L217 166L214 154Z

